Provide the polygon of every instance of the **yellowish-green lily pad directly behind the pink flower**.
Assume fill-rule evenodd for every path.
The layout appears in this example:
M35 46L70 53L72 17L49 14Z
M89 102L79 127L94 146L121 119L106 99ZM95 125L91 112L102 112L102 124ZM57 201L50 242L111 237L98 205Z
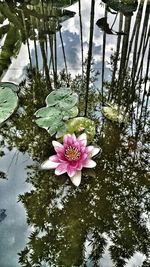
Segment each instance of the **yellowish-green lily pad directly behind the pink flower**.
M85 132L88 137L88 142L91 142L95 136L95 123L94 121L85 118L85 117L77 117L69 120L66 123L67 133L81 133Z

